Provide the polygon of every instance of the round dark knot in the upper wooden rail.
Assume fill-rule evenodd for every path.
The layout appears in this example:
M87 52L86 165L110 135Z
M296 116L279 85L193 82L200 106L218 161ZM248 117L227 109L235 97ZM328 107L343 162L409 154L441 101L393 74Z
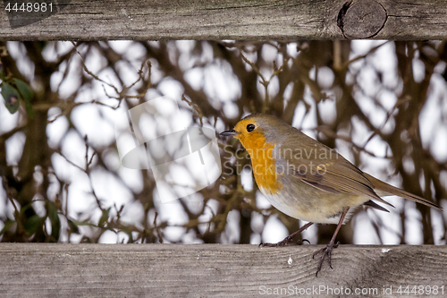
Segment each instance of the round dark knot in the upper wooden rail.
M359 0L343 5L337 25L345 38L372 38L382 28L387 18L382 4L374 0Z

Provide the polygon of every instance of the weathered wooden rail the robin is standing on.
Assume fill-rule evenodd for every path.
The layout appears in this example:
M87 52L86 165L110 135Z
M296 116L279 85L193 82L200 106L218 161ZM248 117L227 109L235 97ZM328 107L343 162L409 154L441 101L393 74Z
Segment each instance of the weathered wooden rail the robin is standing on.
M366 296L380 297L390 286L396 296L400 285L444 285L447 291L447 246L341 245L333 269L325 263L315 277L311 255L321 247L1 243L0 296L254 297L267 289L324 286L318 294L343 287L351 294L334 295L352 297L357 288L373 288L378 295Z

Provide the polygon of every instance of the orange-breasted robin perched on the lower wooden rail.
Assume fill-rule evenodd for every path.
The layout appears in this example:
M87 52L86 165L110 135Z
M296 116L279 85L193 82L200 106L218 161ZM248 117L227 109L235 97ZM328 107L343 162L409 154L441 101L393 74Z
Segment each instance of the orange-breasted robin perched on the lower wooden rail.
M388 212L375 202L392 206L380 196L397 195L441 209L429 200L367 175L335 150L273 115L248 115L232 131L221 132L221 135L240 140L247 149L257 186L274 208L308 221L282 242L261 245L297 243L292 237L314 223L338 224L327 246L312 256L323 252L316 275L326 256L332 268L331 253L338 246L335 237L356 207L365 205Z

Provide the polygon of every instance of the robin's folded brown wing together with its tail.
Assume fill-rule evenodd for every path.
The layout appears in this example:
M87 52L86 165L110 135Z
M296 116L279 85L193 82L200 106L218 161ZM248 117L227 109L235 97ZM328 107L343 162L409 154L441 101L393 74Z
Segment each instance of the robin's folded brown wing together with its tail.
M281 163L288 169L288 174L322 191L365 196L371 200L392 206L392 204L382 200L375 193L374 190L376 190L441 209L429 200L402 191L363 173L335 150L326 147L293 127L287 127L282 132L275 131L274 137L277 138L278 135L283 135L283 138L286 138L283 140L283 146L281 147L283 152L295 153L298 151L298 153L302 153L293 156L283 154ZM325 154L321 159L318 159L320 156L316 153Z

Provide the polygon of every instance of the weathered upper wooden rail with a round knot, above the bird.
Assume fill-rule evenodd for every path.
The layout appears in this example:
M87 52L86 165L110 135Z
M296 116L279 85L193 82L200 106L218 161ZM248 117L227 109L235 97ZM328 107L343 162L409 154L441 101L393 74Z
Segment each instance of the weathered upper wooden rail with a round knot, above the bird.
M49 1L49 0L48 0ZM55 2L55 1L53 1ZM337 21L347 0L59 0L59 13L11 28L0 2L0 39L335 39L345 38ZM349 37L376 28L352 3ZM386 21L373 36L381 39L447 38L447 2L443 0L368 1L383 7ZM383 12L382 12L383 14ZM42 15L39 14L39 15ZM27 18L39 18L29 13ZM11 14L10 14L11 16ZM384 16L382 16L383 18ZM358 30L358 34L356 33Z

